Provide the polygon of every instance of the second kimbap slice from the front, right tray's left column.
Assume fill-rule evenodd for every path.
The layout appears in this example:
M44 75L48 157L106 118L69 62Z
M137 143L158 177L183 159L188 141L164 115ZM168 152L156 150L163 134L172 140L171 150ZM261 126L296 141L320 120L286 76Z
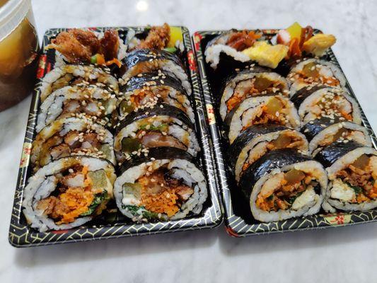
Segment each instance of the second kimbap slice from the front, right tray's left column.
M245 129L229 149L236 181L258 158L274 149L297 149L308 154L308 141L301 132L280 125L255 125Z

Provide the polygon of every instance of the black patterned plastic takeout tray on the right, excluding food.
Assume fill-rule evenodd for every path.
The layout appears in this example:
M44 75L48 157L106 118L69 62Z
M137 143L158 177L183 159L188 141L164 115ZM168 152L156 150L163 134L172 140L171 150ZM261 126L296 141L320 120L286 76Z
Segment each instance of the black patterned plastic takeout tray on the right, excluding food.
M318 30L316 30L318 32ZM250 212L250 206L245 203L243 197L240 195L240 190L236 187L236 183L228 171L226 161L226 151L228 144L221 137L221 117L217 111L216 105L216 91L219 91L223 81L219 80L212 71L209 64L205 61L204 50L207 43L217 35L225 33L226 30L213 31L199 31L194 33L192 39L194 41L195 54L197 56L197 65L199 69L200 82L204 96L204 107L207 110L207 122L209 125L209 132L214 148L214 160L216 163L217 178L219 180L219 191L221 199L224 204L224 222L226 231L229 235L240 237L250 236L263 233L275 233L284 231L297 231L306 229L320 229L334 226L347 226L352 224L367 223L377 220L377 209L367 212L338 212L335 214L325 214L321 209L318 214L313 216L303 216L294 219L287 219L283 221L274 221L262 223L253 218ZM278 30L262 30L262 33L267 37L272 37ZM330 62L339 66L337 59L332 52L327 52L327 57ZM354 92L348 81L346 88L355 98ZM361 108L360 108L361 109ZM376 135L369 125L364 112L361 110L362 125L366 127L372 139L373 147L377 146Z

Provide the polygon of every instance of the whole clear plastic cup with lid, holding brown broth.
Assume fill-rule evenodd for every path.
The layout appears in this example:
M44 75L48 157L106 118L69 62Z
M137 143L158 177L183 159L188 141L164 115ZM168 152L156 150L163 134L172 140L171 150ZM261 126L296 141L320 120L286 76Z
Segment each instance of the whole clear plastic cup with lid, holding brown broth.
M30 94L38 52L30 0L0 0L0 111Z

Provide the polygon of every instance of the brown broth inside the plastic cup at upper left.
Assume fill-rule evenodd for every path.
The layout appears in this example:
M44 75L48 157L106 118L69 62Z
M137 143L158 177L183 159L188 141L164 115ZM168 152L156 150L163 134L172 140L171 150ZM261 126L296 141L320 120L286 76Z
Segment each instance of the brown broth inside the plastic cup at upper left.
M0 0L0 7L6 1ZM15 105L30 94L36 79L39 44L33 13L0 40L0 111Z

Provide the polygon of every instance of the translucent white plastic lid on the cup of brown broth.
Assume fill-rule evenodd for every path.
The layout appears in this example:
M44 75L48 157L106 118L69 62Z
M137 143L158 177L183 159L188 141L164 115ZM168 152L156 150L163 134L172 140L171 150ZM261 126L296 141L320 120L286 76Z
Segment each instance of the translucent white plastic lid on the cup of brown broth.
M30 8L30 0L8 0L0 8L0 40L17 28Z

